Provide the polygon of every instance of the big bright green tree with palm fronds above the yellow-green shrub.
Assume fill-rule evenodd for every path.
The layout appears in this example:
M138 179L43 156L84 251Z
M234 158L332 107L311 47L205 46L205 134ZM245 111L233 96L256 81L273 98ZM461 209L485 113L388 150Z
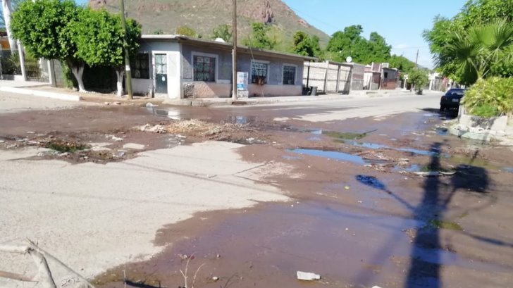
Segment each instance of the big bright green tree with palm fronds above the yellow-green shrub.
M495 28L486 28L488 34L478 32L478 30L483 30L483 26L497 24L497 21L508 24L512 23L512 20L513 1L469 0L462 11L454 18L448 19L437 16L433 22L433 28L424 31L423 36L429 43L437 70L457 82L471 84L478 79L479 73L483 77L493 75L509 77L513 75L511 57L506 56L511 55L513 49L502 44L500 49L493 49L490 44L483 43L483 40L490 42L490 37L504 41L507 31L502 30L501 32L497 30L499 27L495 25ZM501 25L503 28L506 26ZM494 33L497 33L497 35ZM495 61L489 63L488 61L494 58L483 56L483 53L487 53L486 50L488 52L495 50ZM467 60L464 60L464 57ZM481 60L486 59L486 62L482 63L478 60L479 58ZM473 66L475 67L473 68Z

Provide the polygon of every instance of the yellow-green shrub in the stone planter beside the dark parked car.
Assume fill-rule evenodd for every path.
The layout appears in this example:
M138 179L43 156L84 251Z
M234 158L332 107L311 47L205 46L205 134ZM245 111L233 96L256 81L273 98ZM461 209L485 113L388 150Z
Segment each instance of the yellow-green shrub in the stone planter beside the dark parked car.
M513 77L478 80L465 93L463 105L471 115L512 115Z

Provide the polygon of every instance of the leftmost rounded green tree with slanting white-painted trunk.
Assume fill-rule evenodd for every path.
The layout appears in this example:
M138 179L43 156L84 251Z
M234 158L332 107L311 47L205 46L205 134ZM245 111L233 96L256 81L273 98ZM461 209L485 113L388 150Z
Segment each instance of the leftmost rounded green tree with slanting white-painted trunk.
M23 1L13 12L11 31L31 56L67 63L77 79L79 91L83 92L85 62L75 55L75 32L69 25L78 20L81 10L72 0Z

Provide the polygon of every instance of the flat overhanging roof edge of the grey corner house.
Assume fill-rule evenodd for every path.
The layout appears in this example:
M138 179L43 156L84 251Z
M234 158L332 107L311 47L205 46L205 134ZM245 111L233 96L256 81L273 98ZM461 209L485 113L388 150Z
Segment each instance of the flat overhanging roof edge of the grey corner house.
M216 42L205 39L190 38L183 35L142 35L141 39L145 42L180 42L190 44L192 46L209 46L215 49L232 50L233 44L226 42ZM297 54L283 53L266 49L252 48L249 46L237 45L237 52L253 54L258 56L276 56L280 58L288 58L293 60L316 61L317 58L302 56Z

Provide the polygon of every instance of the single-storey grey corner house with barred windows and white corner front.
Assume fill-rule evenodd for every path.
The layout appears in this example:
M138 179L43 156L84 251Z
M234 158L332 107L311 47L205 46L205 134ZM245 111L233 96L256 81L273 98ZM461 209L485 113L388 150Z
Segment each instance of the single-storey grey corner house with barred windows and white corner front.
M137 94L170 99L229 97L232 44L180 35L142 35L131 63ZM302 94L303 63L316 58L237 46L237 72L248 73L249 96Z

